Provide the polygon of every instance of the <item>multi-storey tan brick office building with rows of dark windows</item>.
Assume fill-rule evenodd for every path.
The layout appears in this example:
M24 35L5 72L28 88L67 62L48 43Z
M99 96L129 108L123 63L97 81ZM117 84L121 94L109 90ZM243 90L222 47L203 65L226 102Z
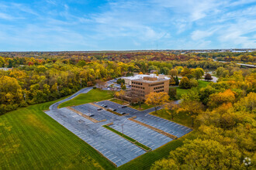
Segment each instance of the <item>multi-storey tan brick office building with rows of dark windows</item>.
M169 92L169 79L144 76L142 79L132 80L131 92L144 97L151 92Z

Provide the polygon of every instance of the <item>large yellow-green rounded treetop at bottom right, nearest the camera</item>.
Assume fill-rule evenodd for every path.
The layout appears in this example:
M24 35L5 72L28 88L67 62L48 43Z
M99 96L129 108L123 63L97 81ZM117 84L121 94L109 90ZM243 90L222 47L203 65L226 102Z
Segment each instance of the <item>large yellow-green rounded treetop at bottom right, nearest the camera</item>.
M151 169L239 169L241 153L232 145L195 139L170 152L168 159L154 163ZM164 164L166 163L166 164Z

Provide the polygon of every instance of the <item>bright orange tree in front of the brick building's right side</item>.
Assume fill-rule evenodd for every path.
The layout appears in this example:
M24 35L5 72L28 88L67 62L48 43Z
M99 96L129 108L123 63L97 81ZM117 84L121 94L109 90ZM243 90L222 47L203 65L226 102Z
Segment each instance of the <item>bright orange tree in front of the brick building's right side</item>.
M153 105L154 109L155 109L155 113L157 113L157 108L161 107L161 105L168 102L168 100L169 100L168 93L165 93L165 92L160 92L160 93L151 92L151 93L147 94L145 104Z

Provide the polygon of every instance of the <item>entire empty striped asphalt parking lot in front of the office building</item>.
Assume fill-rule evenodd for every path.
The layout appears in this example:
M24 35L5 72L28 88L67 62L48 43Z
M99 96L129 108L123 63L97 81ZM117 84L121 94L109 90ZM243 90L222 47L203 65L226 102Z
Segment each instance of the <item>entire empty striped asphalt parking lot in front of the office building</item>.
M125 112L129 113L129 115L118 116L107 110L99 110L99 107L92 104L82 104L73 108L88 116L92 116L93 114L92 117L97 121L106 121L93 123L65 107L57 110L49 110L45 113L50 117L53 117L54 120L58 121L69 131L76 134L79 138L88 143L88 145L91 145L92 148L99 151L117 167L143 155L146 151L137 147L137 145L134 145L130 141L127 141L125 138L122 138L118 134L103 128L102 125L104 124L113 123L112 125L109 125L109 127L126 134L152 150L165 145L169 141L172 141L172 139L143 125L129 121L128 118L137 116L137 118L135 118L137 121L141 121L144 124L173 134L178 138L192 131L192 129L182 126L181 124L176 124L172 121L149 114L154 108L140 111L130 107L123 107L123 105L116 104L109 100L103 100L96 102L95 104L99 106L105 104L106 109L116 109L116 112L120 114Z

